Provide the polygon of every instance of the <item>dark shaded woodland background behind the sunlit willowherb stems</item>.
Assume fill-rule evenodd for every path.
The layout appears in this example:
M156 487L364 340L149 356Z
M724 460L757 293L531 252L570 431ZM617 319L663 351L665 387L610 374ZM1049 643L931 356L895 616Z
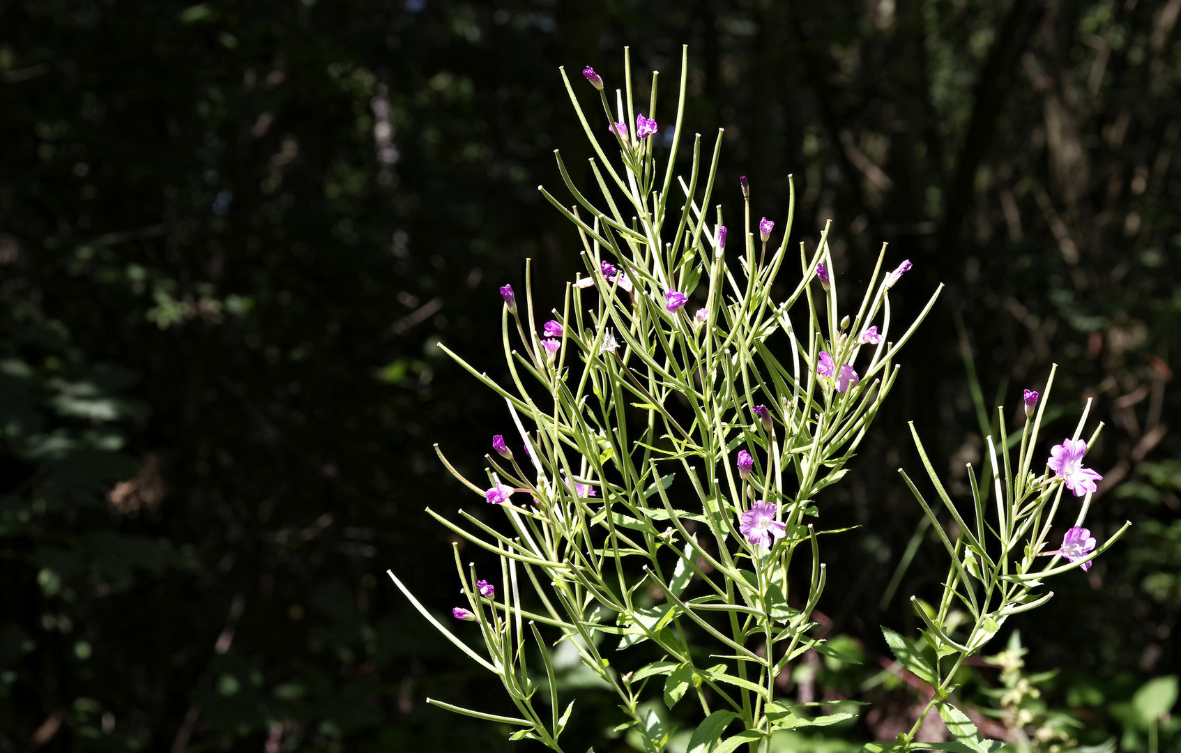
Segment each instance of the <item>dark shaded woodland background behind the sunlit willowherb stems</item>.
M947 284L826 492L829 520L863 528L828 544L823 629L874 669L877 624L914 630L905 597L938 589L927 541L882 598L920 517L894 470L916 465L914 420L963 491L988 420L965 352L985 405L1057 362L1049 437L1087 397L1107 424L1091 528L1136 525L1010 626L1031 670L1062 669L1048 703L1146 749L1127 701L1176 672L1181 604L1179 12L0 1L0 751L509 748L424 705L507 702L383 575L451 605L423 508L478 500L431 444L478 471L507 427L435 343L496 374L496 288L533 258L548 307L578 268L536 190L560 185L557 146L587 178L557 66L613 86L631 45L638 74L664 72L671 124L681 44L687 127L726 129L730 216L749 175L782 230L794 173L791 241L831 218L847 289L883 241L914 262L903 314ZM895 734L918 696L857 677L821 682L886 712L842 734ZM588 745L614 723L593 695L575 716Z

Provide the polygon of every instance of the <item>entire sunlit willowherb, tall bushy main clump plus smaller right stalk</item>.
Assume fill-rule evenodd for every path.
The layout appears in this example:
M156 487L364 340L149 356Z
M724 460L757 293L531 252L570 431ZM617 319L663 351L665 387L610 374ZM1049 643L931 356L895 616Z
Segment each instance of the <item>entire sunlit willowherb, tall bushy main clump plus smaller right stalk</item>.
M841 707L817 716L817 705L777 699L776 677L810 650L852 661L810 635L826 583L820 535L836 532L816 525L821 492L844 476L894 384L899 349L939 290L892 341L889 290L911 263L882 274L883 245L856 312L842 314L828 227L810 253L801 243L798 279L787 274L794 188L785 229L771 243L772 221L763 217L751 227L746 178L739 181L743 233L730 238L727 250L720 205L715 222L707 221L720 130L709 164L696 135L687 182L672 181L685 59L663 170L653 138L660 132L657 74L647 117L635 112L626 52L625 90L616 90L614 109L601 77L589 67L582 73L600 93L605 127L590 126L562 77L598 155L590 169L600 198L592 201L570 182L557 152L576 204L567 208L541 190L576 227L587 275L567 284L562 313L555 310L540 330L528 266L521 302L511 284L501 288L511 385L497 384L444 347L504 398L517 436L511 443L504 434L492 438L496 456L485 456L488 478L479 484L458 473L436 447L456 478L500 508L501 523L484 523L462 509L458 522L428 512L495 554L500 572L465 568L456 548L463 604L452 615L472 623L464 639L436 620L393 572L390 577L448 640L500 677L520 715L428 699L431 703L518 727L513 739L562 751L573 700L563 707L557 698L553 647L565 641L619 695L626 718L616 729L627 729L648 753L664 749L676 732L650 700L663 696L671 708L690 693L703 716L689 739L690 752L770 751L778 729L854 715ZM615 148L614 161L603 142ZM795 281L792 292L774 301L771 286L784 279ZM1033 571L1063 486L1094 490L1077 463L1082 448L1070 443L1065 454L1056 454L1059 465L1051 461L1057 477L1029 473L1037 427L1026 424L1029 441L1023 439L1016 473L1004 437L1004 476L993 454L998 524L984 522L986 496L977 491L978 525L967 528L935 480L959 528L952 544L935 522L953 565L939 609L920 608L932 649L924 653L886 633L898 659L935 687L928 711L938 707L948 725L959 725L953 733L979 749L988 744L972 738L965 726L971 722L947 701L955 669L1009 615L1048 598L1032 591L1039 578L1079 562L1087 567L1102 551L1091 551L1094 539L1078 528L1081 515L1078 532L1068 533L1074 538L1048 569ZM991 555L986 532L1000 541ZM1023 543L1024 559L1011 567L1010 554ZM1057 567L1058 557L1071 564ZM954 624L961 613L951 608L957 598L976 621L964 642L952 637L963 627ZM628 649L646 642L661 659L629 659L634 651ZM954 666L940 672L940 662L952 655L958 656ZM543 689L548 708L539 709L535 696ZM914 731L898 746L912 745L913 736Z

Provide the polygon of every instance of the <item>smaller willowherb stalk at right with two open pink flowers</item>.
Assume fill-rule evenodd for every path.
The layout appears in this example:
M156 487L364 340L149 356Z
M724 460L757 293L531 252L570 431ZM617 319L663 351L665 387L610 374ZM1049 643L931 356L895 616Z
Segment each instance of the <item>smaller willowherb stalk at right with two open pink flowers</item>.
M1045 386L1046 398L1053 385L1055 371L1056 368L1051 369ZM1025 391L1025 426L1020 433L1016 465L1010 448L1016 445L1011 440L1017 439L1017 436L1010 437L1005 428L1004 408L997 408L999 434L996 440L992 436L985 438L988 464L979 477L971 464L967 467L973 503L971 524L948 496L918 433L913 426L911 428L919 457L939 500L952 519L954 541L911 477L906 471L899 470L951 558L938 607L911 597L915 611L926 624L922 642L933 654L925 654L920 647L911 644L889 628L882 628L886 642L898 660L934 688L931 701L914 726L899 736L902 751L913 747L911 744L914 742L914 735L932 709L938 711L959 742L978 751L999 747L983 740L976 725L950 700L960 682L960 667L987 644L1010 616L1050 601L1053 591L1037 591L1045 578L1076 567L1089 570L1091 559L1105 551L1131 525L1124 523L1098 548L1090 531L1083 528L1091 493L1096 490L1095 482L1102 478L1082 465L1087 448L1095 443L1102 428L1101 424L1088 441L1079 439L1090 413L1090 401L1083 410L1074 437L1051 450L1040 474L1033 472L1033 456L1046 405L1046 400L1039 400L1040 397L1043 395L1037 392ZM1065 511L1065 515L1074 516L1074 524L1064 533L1061 546L1050 549L1051 528L1065 491L1070 491L1074 497L1082 497L1082 506L1077 513ZM1053 558L1048 563L1038 559L1044 555ZM1066 563L1058 564L1059 558L1066 559ZM966 610L966 614L961 610ZM1009 661L1012 666L1013 660ZM877 746L875 749L887 749L887 746Z

